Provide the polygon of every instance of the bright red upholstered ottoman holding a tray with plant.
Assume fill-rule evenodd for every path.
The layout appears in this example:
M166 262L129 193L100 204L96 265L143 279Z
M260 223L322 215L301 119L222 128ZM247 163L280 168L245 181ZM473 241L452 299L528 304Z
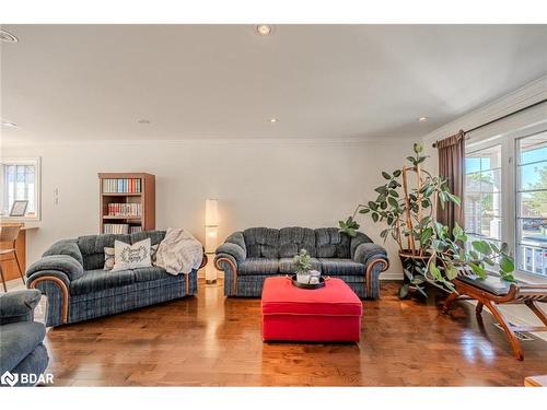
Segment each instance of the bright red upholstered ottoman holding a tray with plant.
M363 306L340 279L305 290L290 278L268 278L263 289L263 340L347 341L361 337Z

